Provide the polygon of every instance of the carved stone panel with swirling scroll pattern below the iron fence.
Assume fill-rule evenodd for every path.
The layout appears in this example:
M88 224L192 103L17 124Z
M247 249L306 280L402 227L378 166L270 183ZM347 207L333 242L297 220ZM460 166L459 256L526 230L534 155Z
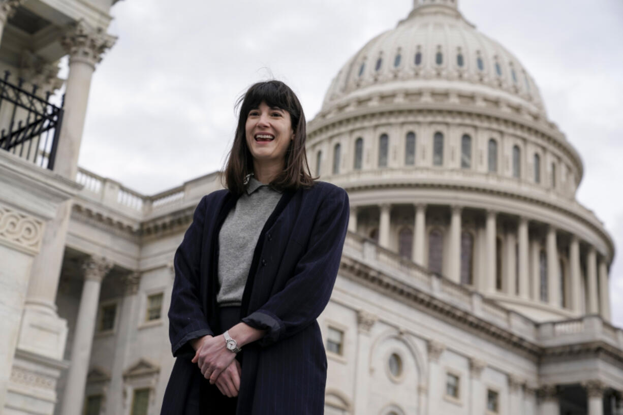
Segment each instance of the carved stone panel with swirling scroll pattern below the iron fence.
M0 243L29 254L37 254L43 238L44 222L0 204Z

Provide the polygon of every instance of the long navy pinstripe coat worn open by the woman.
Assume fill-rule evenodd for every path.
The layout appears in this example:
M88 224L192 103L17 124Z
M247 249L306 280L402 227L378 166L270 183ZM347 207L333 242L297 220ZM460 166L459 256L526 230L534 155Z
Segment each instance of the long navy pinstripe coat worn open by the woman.
M223 412L231 398L191 363L188 341L229 328L216 315L218 234L236 201L228 190L204 196L176 251L168 314L176 362L161 415L232 414ZM316 318L335 284L349 212L346 191L318 181L285 191L265 223L240 318L267 334L244 346L236 415L323 414L326 355Z

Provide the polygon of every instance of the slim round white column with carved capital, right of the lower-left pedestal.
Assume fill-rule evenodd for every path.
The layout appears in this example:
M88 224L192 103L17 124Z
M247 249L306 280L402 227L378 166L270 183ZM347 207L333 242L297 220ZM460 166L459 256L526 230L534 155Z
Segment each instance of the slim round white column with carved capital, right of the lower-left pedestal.
M82 287L82 297L80 297L72 345L72 363L67 372L67 383L63 394L62 415L80 415L82 413L100 288L103 278L108 274L112 265L111 262L101 257L92 257L83 264L84 286Z

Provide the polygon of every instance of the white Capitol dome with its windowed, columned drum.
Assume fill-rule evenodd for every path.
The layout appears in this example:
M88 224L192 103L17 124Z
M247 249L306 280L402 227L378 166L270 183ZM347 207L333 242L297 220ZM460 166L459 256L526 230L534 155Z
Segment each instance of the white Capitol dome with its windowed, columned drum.
M609 320L614 244L575 199L581 158L457 0L415 0L307 128L312 173L348 191L360 237L536 321Z

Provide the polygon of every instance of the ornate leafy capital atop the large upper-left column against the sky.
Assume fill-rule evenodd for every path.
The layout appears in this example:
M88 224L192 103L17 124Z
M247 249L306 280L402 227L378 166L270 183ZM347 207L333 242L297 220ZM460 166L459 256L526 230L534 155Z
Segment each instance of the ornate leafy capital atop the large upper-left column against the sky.
M92 65L102 61L102 54L113 47L116 36L107 34L102 27L92 27L80 19L70 24L60 38L60 44L72 61L80 61Z

